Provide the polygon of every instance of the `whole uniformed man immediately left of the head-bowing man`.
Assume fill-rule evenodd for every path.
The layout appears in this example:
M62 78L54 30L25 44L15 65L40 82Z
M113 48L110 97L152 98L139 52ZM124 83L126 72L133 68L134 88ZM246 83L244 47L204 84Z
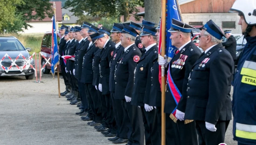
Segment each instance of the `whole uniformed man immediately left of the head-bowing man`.
M96 47L90 35L96 33L99 28L91 25L88 30L88 41L90 41L88 49L85 52L83 67L82 67L82 75L80 81L84 83L85 91L87 93L87 100L89 104L89 112L87 117L92 118L92 122L89 123L90 126L97 126L102 123L102 114L101 114L101 106L99 103L98 93L95 86L92 85L93 81L93 57L95 52L99 49Z

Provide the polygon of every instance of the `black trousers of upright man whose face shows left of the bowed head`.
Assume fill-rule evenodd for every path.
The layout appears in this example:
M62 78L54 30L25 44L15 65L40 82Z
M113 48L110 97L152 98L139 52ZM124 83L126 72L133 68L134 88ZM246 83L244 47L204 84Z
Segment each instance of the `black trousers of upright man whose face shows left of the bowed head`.
M98 98L98 93L95 88L91 83L85 83L84 84L85 91L87 92L87 100L88 100L88 105L90 108L90 111L92 112L92 121L94 122L102 122L102 114L101 114L101 106L99 104L99 98ZM88 116L88 117L91 117Z

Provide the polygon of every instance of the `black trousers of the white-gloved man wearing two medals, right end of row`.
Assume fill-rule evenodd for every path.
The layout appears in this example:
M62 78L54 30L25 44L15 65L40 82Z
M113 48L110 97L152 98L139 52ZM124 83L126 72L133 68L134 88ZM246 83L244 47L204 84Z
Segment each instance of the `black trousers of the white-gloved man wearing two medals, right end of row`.
M205 121L195 121L197 125L198 136L202 138L201 144L205 143L206 145L218 145L224 143L225 133L226 133L226 123L229 121L218 121L215 127L217 128L216 132L209 131L205 127ZM200 139L199 139L200 141ZM200 142L199 142L200 144Z

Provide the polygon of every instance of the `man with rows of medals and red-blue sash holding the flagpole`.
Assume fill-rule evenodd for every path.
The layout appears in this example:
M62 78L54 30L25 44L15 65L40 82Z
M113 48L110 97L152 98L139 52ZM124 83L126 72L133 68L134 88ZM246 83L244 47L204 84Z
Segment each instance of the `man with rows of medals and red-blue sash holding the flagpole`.
M170 75L177 89L171 89L172 84L168 81L164 112L166 113L166 143L167 144L191 144L197 145L197 132L195 121L184 121L184 112L186 107L186 90L189 73L193 64L196 62L201 52L199 48L191 41L190 32L194 27L175 19L172 19L170 39L172 46L175 46L175 56L167 65ZM159 56L159 64L162 65L163 57ZM166 60L166 59L165 59ZM171 78L170 78L171 76ZM174 91L181 94L181 98L173 95ZM177 108L176 113L174 110ZM176 116L176 118L174 117Z

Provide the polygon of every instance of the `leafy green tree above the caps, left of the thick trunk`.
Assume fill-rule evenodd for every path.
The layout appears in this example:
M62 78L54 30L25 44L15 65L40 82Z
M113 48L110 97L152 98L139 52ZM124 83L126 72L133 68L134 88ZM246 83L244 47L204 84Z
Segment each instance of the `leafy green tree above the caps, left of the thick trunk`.
M63 8L72 7L71 12L75 16L88 13L92 16L119 18L124 15L124 21L127 21L129 13L137 10L135 6L143 5L143 0L67 0Z

